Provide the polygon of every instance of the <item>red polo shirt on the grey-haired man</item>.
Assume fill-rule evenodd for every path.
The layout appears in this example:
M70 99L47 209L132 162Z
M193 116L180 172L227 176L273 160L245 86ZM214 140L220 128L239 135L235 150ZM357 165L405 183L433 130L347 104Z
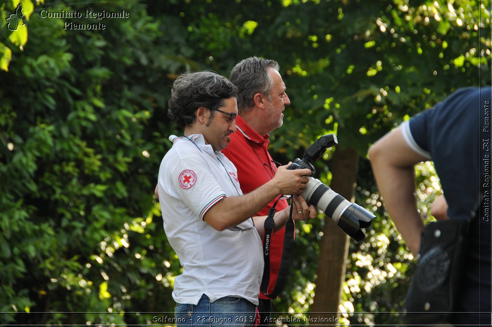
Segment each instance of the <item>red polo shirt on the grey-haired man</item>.
M261 136L254 131L246 122L238 116L236 118L237 132L232 133L231 141L227 148L222 150L222 153L229 158L238 169L238 179L241 185L241 190L244 194L249 193L259 186L270 181L277 171L275 163L272 162L272 157L268 153L267 146L270 142L269 134ZM274 199L266 207L260 210L256 216L267 216L268 210L274 205ZM277 212L285 209L288 206L287 200L281 199L278 201ZM278 268L282 258L283 236L285 228L277 230L272 235L270 247L270 284L268 292L270 293L275 283L277 282ZM260 293L259 298L269 299L269 297Z

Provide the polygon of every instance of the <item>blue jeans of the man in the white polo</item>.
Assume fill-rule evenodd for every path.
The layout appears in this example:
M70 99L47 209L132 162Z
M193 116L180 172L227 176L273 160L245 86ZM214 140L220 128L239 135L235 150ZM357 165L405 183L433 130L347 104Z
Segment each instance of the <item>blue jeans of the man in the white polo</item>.
M215 302L203 294L197 305L177 303L176 326L253 326L256 306L240 297L226 296Z

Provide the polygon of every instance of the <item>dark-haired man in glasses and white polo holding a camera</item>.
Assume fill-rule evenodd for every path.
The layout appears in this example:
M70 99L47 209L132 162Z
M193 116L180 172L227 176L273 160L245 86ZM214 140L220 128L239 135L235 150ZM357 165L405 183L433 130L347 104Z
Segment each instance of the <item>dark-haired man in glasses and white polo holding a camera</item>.
M164 230L183 266L174 282L176 325L252 326L266 217L251 217L281 194L302 193L310 170L279 167L270 182L243 195L236 167L220 152L236 131L236 87L212 72L186 73L171 94L169 116L184 136L170 137L157 187ZM304 200L293 206L293 219L309 218ZM288 216L289 208L277 212L275 228Z

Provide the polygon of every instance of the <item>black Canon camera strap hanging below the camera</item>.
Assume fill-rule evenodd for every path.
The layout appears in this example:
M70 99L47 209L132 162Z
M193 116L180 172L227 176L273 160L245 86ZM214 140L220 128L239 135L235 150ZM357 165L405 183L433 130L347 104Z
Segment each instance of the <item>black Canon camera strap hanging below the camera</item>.
M280 198L278 198L280 199ZM277 281L275 283L274 289L271 293L268 293L268 285L270 284L270 246L272 243L272 234L275 228L274 215L277 209L275 201L274 205L270 208L268 212L268 217L265 220L264 225L264 235L263 235L263 260L265 262L265 268L263 270L263 278L261 280L260 291L265 296L272 299L277 298L280 291L282 291L285 281L287 280L287 275L289 273L290 267L290 257L292 254L292 248L294 246L294 232L295 225L292 220L292 204L290 205L289 219L285 223L285 235L283 238L283 251L282 259L280 261L280 267L278 269Z

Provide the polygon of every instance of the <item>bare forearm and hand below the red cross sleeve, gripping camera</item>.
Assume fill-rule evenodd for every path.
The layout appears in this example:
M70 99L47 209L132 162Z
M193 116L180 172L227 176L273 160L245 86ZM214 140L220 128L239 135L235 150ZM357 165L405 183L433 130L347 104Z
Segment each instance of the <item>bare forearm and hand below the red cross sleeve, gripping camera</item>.
M205 213L203 220L217 230L224 230L241 224L252 217L280 194L300 194L306 188L309 169L287 170L287 166L278 167L275 177L243 195L226 197L215 203Z

